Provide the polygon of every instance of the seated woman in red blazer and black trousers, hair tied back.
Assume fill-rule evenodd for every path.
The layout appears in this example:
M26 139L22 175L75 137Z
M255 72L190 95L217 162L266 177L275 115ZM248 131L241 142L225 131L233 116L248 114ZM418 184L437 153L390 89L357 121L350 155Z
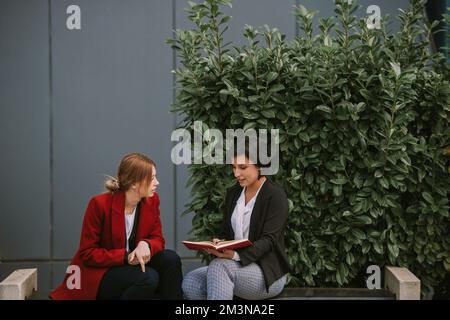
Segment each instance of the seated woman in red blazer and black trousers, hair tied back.
M80 247L52 299L181 299L181 262L164 250L155 163L126 155L86 209Z

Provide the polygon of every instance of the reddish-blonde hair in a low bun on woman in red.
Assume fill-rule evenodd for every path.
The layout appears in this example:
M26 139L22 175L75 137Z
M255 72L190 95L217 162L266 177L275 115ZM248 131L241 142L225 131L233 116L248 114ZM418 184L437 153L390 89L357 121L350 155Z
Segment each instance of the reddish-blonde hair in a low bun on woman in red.
M107 176L105 188L110 192L127 191L134 183L150 184L153 176L152 159L141 153L130 153L123 157L117 170L117 178Z

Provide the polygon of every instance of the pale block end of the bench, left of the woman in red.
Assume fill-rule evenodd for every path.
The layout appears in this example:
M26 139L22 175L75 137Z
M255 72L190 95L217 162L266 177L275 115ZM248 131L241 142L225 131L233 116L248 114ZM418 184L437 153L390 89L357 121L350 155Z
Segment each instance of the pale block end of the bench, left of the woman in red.
M37 269L18 269L0 283L0 300L25 300L37 290Z

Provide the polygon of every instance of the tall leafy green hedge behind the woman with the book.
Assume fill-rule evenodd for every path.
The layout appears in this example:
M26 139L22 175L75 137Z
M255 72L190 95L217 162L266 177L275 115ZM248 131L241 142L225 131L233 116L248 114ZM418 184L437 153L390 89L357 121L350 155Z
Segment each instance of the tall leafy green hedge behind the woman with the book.
M400 31L369 29L354 1L335 17L296 8L301 36L246 26L246 45L224 44L227 0L190 3L192 30L168 42L176 70L173 110L206 127L280 130L289 198L290 286L344 286L371 264L408 267L424 285L450 271L450 86L445 59L429 52L424 1L399 14ZM205 129L204 128L204 129ZM217 233L226 165L190 165L196 239Z

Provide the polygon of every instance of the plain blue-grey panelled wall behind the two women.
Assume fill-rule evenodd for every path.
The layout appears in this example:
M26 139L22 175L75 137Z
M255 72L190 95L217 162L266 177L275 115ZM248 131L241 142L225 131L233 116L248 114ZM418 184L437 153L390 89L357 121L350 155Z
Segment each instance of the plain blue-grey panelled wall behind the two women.
M333 1L235 0L227 39L245 24L296 33L293 5L333 12ZM364 0L382 14L408 1ZM395 4L394 4L395 3ZM66 8L81 7L81 30L66 28ZM189 28L181 0L0 0L0 280L37 267L44 292L61 281L75 252L86 204L103 174L143 152L157 163L167 247L185 272L200 263L180 241L189 190L185 166L170 161L169 113L177 59L164 39ZM394 24L395 27L395 24Z

